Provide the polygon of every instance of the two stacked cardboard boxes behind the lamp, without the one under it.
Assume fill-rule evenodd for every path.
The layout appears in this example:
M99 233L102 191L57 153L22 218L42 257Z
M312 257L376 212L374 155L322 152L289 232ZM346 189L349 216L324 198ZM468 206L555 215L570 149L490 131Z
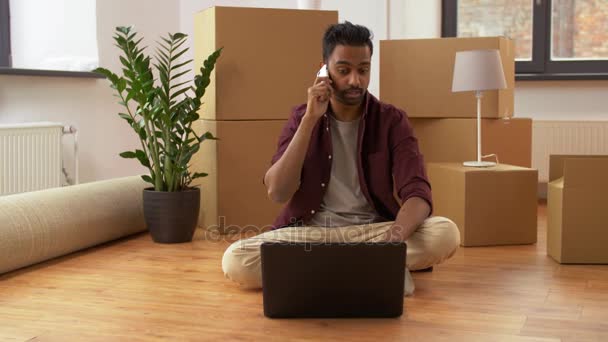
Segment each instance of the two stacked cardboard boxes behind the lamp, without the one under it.
M457 51L497 49L507 88L483 92L482 154L530 167L532 121L512 118L515 85L513 41L502 37L380 41L380 96L407 112L426 162L477 158L474 92L452 92Z

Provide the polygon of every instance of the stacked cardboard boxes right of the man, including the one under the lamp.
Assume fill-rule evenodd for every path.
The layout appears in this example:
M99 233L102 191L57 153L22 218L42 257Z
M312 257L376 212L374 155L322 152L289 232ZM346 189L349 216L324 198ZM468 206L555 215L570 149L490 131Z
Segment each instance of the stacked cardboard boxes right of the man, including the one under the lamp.
M507 88L484 91L482 155L499 165L464 167L477 159L474 92L452 92L457 51L497 49ZM380 96L406 111L427 163L434 214L455 221L464 246L536 242L537 171L531 166L532 121L512 118L513 41L502 37L380 42ZM519 167L518 167L519 166Z

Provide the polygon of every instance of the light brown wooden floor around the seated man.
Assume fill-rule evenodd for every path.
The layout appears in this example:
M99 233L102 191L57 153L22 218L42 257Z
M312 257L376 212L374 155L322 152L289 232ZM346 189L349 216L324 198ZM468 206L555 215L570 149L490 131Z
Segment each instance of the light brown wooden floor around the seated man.
M158 245L139 235L0 276L1 341L608 341L608 266L532 246L461 248L399 319L271 320L259 291L227 281L227 241ZM608 246L607 246L608 248Z

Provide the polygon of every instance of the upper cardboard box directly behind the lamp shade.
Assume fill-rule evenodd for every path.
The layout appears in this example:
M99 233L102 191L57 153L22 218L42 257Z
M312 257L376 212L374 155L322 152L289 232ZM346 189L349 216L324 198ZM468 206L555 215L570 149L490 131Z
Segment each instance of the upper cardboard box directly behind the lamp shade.
M507 89L484 91L484 118L513 116L515 51L503 37L435 38L380 41L380 99L410 117L477 117L475 92L452 93L457 51L498 49Z

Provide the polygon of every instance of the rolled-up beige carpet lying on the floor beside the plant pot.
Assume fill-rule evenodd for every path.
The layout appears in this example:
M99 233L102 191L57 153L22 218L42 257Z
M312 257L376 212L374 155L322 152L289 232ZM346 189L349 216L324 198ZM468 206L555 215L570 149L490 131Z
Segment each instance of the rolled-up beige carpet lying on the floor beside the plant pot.
M145 230L139 176L0 197L0 274Z

